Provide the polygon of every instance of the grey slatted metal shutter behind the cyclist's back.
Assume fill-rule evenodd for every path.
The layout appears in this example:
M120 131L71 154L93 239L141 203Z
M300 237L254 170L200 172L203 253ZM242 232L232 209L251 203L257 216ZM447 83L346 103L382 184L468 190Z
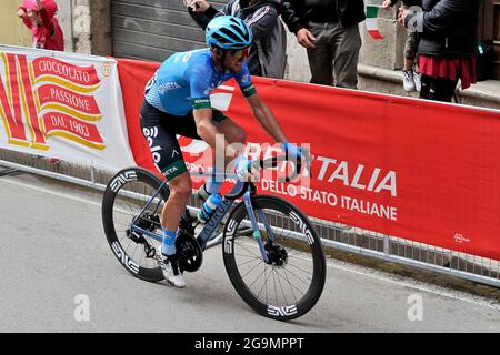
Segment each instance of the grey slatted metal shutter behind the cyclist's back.
M226 1L211 1L221 9ZM112 0L113 55L163 61L174 52L207 47L182 0Z

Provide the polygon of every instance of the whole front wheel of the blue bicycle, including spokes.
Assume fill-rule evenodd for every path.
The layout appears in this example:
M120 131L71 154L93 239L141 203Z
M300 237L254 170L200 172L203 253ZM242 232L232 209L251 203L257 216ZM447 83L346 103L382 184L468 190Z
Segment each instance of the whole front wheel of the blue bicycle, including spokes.
M223 260L238 294L259 314L289 321L309 312L324 287L326 260L310 221L291 203L254 196L252 205L269 262L262 261L244 203L230 215Z

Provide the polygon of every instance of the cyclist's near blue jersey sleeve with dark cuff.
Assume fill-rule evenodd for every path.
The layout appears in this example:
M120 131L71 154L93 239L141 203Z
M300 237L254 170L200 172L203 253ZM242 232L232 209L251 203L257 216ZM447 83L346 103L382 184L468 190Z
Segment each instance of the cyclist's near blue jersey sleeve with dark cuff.
M193 110L210 109L210 80L212 71L202 62L191 64L184 73L191 90L191 104Z

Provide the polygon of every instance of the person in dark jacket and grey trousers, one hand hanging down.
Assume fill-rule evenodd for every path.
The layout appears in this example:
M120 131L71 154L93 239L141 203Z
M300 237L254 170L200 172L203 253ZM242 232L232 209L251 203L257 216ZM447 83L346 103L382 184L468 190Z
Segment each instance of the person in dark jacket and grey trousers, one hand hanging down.
M283 0L281 18L308 51L311 83L358 88L363 0Z

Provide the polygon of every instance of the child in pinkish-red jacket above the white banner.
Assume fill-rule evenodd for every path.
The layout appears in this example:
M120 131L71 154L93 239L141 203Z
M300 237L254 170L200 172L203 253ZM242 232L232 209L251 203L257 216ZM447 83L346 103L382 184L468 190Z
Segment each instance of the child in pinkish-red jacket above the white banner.
M64 38L56 18L58 6L53 0L23 0L18 17L31 30L33 47L53 51L64 50Z

